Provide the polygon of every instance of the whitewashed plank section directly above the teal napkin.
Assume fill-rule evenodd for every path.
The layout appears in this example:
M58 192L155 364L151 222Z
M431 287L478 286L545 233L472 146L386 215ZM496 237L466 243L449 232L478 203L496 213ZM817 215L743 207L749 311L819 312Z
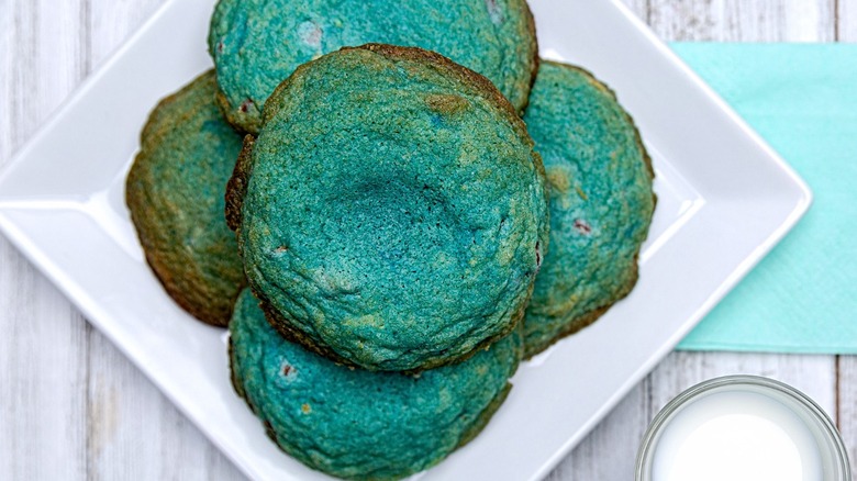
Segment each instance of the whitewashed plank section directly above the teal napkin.
M668 41L830 42L835 0L650 0L650 25Z

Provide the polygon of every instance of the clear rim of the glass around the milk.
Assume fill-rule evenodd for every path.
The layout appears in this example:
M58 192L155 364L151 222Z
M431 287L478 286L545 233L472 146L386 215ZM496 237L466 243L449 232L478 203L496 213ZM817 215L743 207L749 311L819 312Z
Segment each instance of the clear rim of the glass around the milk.
M817 422L819 426L822 428L819 430L822 432L822 435L824 435L832 445L832 462L836 465L834 467L836 469L834 474L839 476L839 478L835 478L834 481L852 480L852 468L850 462L848 461L848 450L845 447L842 435L836 428L836 425L833 423L827 413L825 413L815 401L798 389L775 379L752 374L730 374L709 379L686 389L679 395L670 400L655 415L655 417L652 420L652 424L649 424L648 428L646 429L645 435L643 435L643 440L641 441L639 450L637 451L636 466L634 469L634 480L649 481L652 479L652 459L655 451L654 448L657 446L657 440L659 440L659 435L664 427L669 424L674 415L676 415L682 406L687 405L693 399L713 390L741 385L763 388L763 391L769 390L778 392L780 394L784 394L787 398L801 405L805 412ZM787 407L791 411L797 411L793 406L787 405ZM822 448L824 447L820 445L819 449Z

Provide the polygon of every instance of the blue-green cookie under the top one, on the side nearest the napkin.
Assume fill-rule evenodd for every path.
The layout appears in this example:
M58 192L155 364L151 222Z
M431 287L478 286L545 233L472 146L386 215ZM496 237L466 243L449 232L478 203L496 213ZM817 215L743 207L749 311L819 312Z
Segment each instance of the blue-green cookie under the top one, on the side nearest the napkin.
M631 116L586 70L542 61L524 121L550 192L550 251L524 322L531 357L631 292L655 195Z

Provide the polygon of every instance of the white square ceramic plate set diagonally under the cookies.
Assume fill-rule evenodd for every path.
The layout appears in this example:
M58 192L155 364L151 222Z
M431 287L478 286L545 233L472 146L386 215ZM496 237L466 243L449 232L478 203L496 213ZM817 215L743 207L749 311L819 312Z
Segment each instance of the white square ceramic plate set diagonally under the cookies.
M230 385L222 329L144 262L124 177L158 99L210 68L213 0L171 0L23 148L0 227L257 479L323 479L282 455ZM534 0L542 53L592 70L636 119L659 202L632 295L524 363L486 430L422 479L545 476L808 209L794 172L617 1Z

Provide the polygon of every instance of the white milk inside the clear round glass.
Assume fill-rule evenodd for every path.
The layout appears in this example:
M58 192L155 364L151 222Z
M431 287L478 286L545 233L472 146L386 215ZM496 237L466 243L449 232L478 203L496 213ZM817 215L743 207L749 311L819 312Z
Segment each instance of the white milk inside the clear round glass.
M753 391L714 391L675 414L655 447L654 481L822 481L804 421Z

